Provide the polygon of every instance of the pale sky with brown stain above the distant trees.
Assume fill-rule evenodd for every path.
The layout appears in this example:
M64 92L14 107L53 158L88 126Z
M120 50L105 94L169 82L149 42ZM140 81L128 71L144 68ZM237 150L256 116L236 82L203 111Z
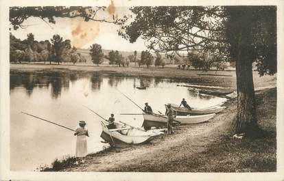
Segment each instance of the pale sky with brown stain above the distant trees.
M130 14L128 8L113 8L111 12L97 14L97 18L110 18L113 16L121 17ZM50 40L55 34L59 34L64 40L71 40L72 46L78 48L89 48L91 44L101 44L103 49L118 51L143 51L146 49L144 41L139 38L137 42L131 44L117 34L119 25L113 23L99 23L95 21L85 22L83 18L55 18L56 24L46 23L37 17L30 17L23 25L24 29L14 30L11 33L24 40L28 33L33 33L37 41ZM11 26L12 27L12 26Z

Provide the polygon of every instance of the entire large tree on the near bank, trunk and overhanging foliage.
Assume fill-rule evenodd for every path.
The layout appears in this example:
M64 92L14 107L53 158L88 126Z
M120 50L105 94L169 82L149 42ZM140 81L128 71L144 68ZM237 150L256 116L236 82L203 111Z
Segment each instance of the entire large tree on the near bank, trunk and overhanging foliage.
M276 72L276 7L161 6L130 8L135 18L119 35L173 57L199 51L236 61L238 113L235 133L257 135L252 62L259 74ZM204 67L210 68L209 66Z

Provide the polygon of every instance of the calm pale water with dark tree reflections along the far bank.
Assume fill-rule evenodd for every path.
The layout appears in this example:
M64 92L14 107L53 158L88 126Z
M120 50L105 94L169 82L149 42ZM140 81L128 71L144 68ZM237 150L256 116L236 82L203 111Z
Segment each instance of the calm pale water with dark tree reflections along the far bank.
M177 87L181 82L173 79L134 78L102 74L62 74L22 72L10 73L11 102L11 169L34 170L39 165L49 165L55 158L75 154L73 132L53 124L24 115L21 111L43 117L46 120L76 128L79 120L85 120L90 134L88 152L102 150L105 143L99 137L102 128L100 118L82 105L108 118L115 114L134 126L143 124L139 108L123 97L117 89L144 107L149 102L154 111L165 112L164 104L178 104L186 98L193 107L209 107L224 98L200 97L187 87ZM135 86L145 86L139 90Z

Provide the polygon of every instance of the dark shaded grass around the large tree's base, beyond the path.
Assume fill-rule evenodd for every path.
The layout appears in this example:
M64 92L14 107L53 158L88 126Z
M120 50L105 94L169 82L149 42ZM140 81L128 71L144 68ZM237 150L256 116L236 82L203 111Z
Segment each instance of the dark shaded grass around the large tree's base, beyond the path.
M196 154L152 165L126 165L115 171L267 172L276 171L276 88L257 94L257 115L263 137L234 139L230 122L224 133ZM214 134L213 134L214 135ZM192 145L188 145L189 147ZM173 152L174 154L174 152Z

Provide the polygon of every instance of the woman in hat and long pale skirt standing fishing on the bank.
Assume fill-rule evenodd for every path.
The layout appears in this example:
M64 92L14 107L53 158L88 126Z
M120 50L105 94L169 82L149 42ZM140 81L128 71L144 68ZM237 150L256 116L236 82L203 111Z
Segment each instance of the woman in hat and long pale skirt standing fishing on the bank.
M84 163L84 157L87 154L87 141L86 137L88 137L88 129L85 127L86 122L80 121L79 128L76 128L74 136L77 136L76 141L76 150L75 150L75 157L76 162L75 164L78 165L79 162Z

